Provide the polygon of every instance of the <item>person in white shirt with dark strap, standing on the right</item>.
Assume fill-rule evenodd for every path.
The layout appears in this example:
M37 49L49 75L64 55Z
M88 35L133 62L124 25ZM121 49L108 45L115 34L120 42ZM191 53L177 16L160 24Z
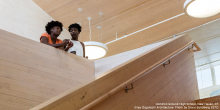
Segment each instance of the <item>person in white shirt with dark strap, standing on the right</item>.
M76 54L81 57L85 57L84 43L78 40L81 29L82 27L79 24L77 23L71 24L69 26L69 32L72 38L71 40L66 40L66 41L70 41L74 44L71 48L69 48L68 52Z

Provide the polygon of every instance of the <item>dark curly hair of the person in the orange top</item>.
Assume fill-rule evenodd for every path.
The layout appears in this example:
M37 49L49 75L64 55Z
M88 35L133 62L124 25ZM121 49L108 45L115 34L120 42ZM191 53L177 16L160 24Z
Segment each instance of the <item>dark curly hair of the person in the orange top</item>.
M50 35L51 33L50 33L50 29L51 28L53 28L54 26L59 26L60 27L60 29L61 29L61 32L63 31L63 24L61 23L61 22L59 22L59 21L51 21L51 22L48 22L47 23L47 25L45 26L45 28L46 28L46 31L47 31L47 33Z

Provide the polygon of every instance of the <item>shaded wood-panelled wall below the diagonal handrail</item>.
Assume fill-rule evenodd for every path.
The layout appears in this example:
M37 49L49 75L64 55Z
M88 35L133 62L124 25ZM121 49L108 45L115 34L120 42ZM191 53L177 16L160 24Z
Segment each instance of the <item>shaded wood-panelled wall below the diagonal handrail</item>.
M193 53L185 50L133 83L134 89L124 90L95 106L93 110L130 110L135 106L154 106L155 103L191 102L199 99ZM196 98L189 97L192 92Z

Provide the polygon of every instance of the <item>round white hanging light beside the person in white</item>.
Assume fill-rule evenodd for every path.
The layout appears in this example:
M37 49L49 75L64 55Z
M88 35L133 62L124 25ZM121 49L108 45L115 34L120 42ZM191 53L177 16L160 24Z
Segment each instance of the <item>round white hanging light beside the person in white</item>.
M100 42L88 41L83 42L85 45L85 56L95 60L104 57L108 52L108 47Z

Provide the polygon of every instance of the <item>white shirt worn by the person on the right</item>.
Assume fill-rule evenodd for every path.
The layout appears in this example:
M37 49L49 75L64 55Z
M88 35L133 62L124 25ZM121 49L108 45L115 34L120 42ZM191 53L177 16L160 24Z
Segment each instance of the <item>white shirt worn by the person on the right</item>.
M73 43L73 46L69 48L69 53L75 53L78 56L83 57L83 46L79 41L70 40ZM75 51L75 52L74 52Z

